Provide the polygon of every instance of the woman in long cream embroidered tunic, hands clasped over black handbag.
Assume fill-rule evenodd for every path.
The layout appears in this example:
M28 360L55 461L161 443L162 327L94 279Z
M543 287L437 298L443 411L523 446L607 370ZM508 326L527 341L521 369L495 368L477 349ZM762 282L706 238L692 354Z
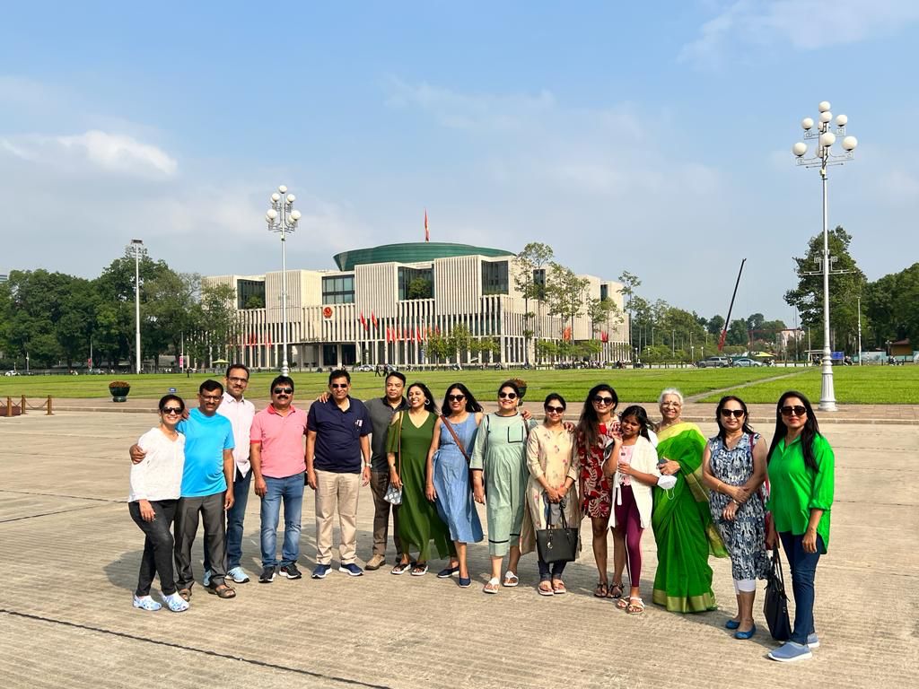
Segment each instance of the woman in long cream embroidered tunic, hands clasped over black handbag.
M565 399L552 392L542 403L545 418L527 438L527 507L523 527L522 552L536 549L536 531L561 523L550 519L551 513L564 514L567 525L581 524L581 510L577 501L578 469L574 462L574 435L563 424ZM569 424L570 425L570 424ZM580 549L580 543L578 543ZM551 566L539 558L540 595L566 593L562 571L566 562L553 562Z

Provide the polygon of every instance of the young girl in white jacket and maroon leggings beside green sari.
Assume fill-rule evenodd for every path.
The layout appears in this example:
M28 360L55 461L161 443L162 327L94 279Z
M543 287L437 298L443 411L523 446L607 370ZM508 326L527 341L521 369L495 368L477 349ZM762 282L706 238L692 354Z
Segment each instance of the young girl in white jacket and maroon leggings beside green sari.
M661 472L657 453L648 437L648 414L642 407L627 407L619 418L622 446L618 457L609 457L604 470L613 475L613 585L622 586L622 572L628 559L628 598L622 596L617 607L630 615L644 611L641 582L641 533L651 524L652 486Z

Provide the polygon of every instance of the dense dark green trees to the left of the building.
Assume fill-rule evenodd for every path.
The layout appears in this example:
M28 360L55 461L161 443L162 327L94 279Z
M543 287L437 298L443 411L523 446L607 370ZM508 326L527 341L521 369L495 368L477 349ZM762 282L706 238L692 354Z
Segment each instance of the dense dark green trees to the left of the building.
M134 256L126 252L94 279L47 270L14 270L0 284L0 367L118 368L135 356ZM235 294L201 288L197 273L177 273L144 255L139 263L144 358L203 359L234 329Z

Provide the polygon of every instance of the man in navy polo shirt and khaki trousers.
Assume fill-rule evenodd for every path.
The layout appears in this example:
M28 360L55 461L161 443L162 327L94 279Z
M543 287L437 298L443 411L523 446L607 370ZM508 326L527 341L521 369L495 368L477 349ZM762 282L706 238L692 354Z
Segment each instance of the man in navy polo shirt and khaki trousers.
M339 571L352 577L364 573L357 557L357 496L370 480L373 431L364 402L350 396L351 376L344 369L329 374L327 401L313 402L307 417L306 480L316 491L316 569L324 579L332 567L332 521L341 528ZM363 461L363 469L361 463Z

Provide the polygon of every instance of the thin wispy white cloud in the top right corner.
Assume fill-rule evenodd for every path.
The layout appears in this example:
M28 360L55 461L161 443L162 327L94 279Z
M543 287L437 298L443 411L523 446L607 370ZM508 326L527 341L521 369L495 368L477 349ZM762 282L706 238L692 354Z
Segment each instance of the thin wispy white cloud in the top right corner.
M725 53L775 43L813 51L884 36L916 20L915 0L737 0L701 26L678 59L711 65Z

